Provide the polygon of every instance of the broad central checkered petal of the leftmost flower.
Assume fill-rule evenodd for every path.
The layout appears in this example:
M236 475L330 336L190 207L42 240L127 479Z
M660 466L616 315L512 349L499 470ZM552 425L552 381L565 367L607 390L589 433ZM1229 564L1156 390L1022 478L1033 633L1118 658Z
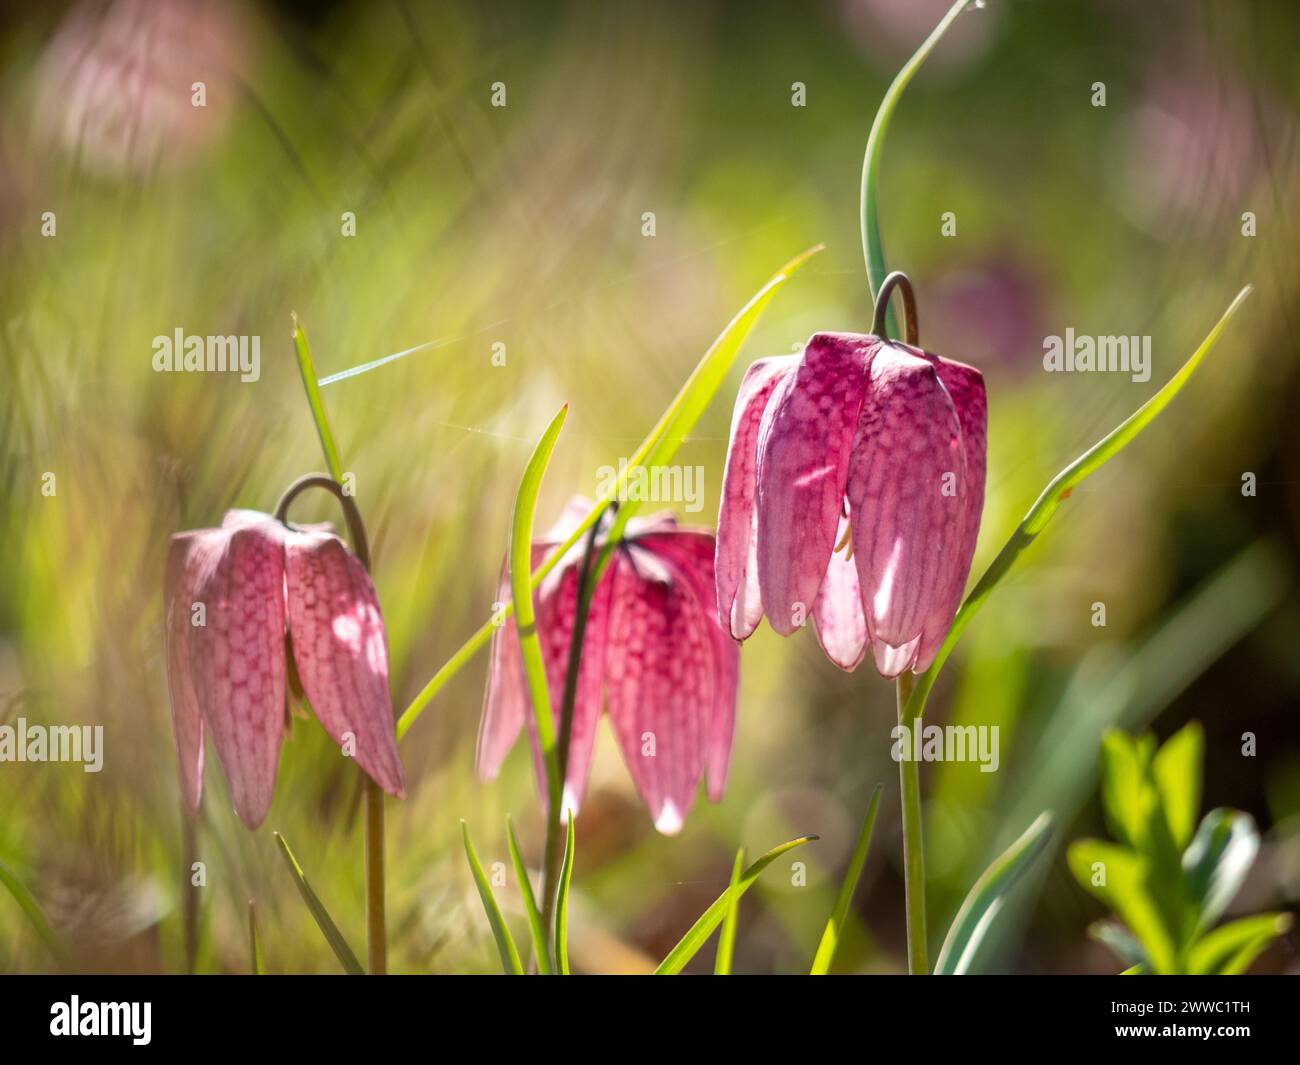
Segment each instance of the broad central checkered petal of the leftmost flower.
M256 828L285 733L285 547L273 521L225 529L211 544L196 559L194 599L207 616L188 633L190 674L235 813Z

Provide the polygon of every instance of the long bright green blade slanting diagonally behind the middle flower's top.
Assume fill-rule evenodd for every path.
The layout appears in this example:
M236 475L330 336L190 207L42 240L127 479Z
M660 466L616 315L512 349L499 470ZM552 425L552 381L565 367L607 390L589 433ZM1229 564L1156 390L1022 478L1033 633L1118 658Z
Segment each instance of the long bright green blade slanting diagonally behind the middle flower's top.
M568 540L560 544L550 557L533 572L532 586L536 588L542 577L545 577L564 554L577 544L582 536L592 528L592 525L599 519L604 508L623 494L623 489L627 485L628 477L632 476L633 471L638 467L645 467L650 464L663 466L666 464L681 445L682 437L685 437L699 420L699 416L705 412L710 401L722 388L723 381L727 377L727 372L731 369L732 364L736 362L736 356L740 354L741 345L745 338L749 337L754 325L757 324L759 316L766 309L767 304L771 303L772 298L777 291L785 285L786 281L794 274L794 272L802 267L809 259L811 259L816 252L822 250L818 244L814 248L809 248L802 255L792 259L780 270L774 274L762 289L759 289L741 309L728 322L727 328L718 335L718 339L712 342L710 348L705 352L703 358L696 364L686 382L681 386L676 398L668 404L663 416L655 423L655 427L650 430L650 434L641 442L636 453L628 460L625 468L621 469L619 476L614 480L610 488L606 490L604 495L595 501L595 505L588 512L573 532L569 533ZM632 507L624 507L625 511L630 511ZM621 514L621 511L620 511ZM630 516L630 514L629 514ZM618 528L621 534L621 527ZM612 538L612 532L611 532ZM508 615L514 610L512 603L506 603L504 612ZM451 680L462 668L486 645L495 631L497 623L493 619L486 620L462 646L460 649L447 659L447 662L433 675L428 684L420 690L420 693L411 701L411 705L402 711L402 717L398 718L398 740L400 740L411 730L411 726L416 723L420 714L424 713L429 702L433 700L438 692Z

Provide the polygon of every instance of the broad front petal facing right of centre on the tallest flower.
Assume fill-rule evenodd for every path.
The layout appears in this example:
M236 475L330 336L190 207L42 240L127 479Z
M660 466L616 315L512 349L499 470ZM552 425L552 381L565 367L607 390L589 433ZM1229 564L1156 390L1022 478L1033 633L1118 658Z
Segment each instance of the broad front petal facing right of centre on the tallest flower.
M871 363L848 497L854 560L876 668L915 668L958 568L967 492L957 412L935 367L883 345ZM968 558L966 560L968 566Z

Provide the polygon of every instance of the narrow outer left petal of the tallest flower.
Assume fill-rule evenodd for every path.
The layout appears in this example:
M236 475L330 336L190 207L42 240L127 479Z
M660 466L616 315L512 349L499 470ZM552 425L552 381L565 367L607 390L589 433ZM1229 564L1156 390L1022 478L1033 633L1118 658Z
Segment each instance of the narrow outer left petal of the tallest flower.
M793 355L759 359L740 382L732 414L727 469L718 506L715 559L718 619L737 640L749 637L763 616L758 593L758 430L777 385L793 371Z

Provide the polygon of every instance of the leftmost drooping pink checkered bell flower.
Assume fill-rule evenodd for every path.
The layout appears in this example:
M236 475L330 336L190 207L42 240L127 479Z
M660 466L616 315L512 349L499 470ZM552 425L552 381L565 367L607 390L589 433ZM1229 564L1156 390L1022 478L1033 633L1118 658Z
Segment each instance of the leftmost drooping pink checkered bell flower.
M289 654L334 743L384 791L404 796L380 603L329 525L228 511L218 529L172 537L164 597L172 724L191 809L203 792L207 732L239 819L256 828L266 817Z

